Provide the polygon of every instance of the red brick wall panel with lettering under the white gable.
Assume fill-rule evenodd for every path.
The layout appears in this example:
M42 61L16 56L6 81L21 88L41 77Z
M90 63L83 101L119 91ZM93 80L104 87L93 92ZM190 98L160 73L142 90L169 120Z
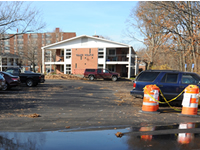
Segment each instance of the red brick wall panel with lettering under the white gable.
M89 53L90 49L91 53ZM86 68L97 68L97 67L98 67L98 48L72 49L71 70L73 74L76 74L76 71L74 71L75 69L86 69Z

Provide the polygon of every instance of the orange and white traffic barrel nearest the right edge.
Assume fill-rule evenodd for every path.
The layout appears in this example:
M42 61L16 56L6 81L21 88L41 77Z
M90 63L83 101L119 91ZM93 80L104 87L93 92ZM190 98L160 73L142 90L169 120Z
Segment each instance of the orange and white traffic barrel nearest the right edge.
M199 87L197 85L189 85L185 88L182 101L182 115L197 115L199 102Z

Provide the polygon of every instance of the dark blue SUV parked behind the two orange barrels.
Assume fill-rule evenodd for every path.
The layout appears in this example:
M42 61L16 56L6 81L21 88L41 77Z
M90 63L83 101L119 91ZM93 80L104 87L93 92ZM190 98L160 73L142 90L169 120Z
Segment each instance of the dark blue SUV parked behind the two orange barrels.
M146 70L141 72L133 81L133 90L130 94L143 97L143 88L149 84L156 84L167 100L176 97L188 85L200 86L200 76L193 72L174 70ZM182 100L181 95L178 99Z

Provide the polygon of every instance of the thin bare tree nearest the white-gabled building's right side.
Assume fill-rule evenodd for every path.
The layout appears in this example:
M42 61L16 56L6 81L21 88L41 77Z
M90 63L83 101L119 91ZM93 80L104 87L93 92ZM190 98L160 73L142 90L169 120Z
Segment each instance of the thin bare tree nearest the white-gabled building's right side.
M127 20L129 28L127 29L127 35L134 40L142 42L146 49L144 49L148 62L148 69L150 69L154 63L154 58L159 52L160 48L167 42L167 35L162 34L162 30L159 26L152 25L157 24L159 20L159 13L157 10L152 9L153 4L149 2L139 2L137 9L133 9L130 13L130 17ZM133 30L138 30L139 39Z

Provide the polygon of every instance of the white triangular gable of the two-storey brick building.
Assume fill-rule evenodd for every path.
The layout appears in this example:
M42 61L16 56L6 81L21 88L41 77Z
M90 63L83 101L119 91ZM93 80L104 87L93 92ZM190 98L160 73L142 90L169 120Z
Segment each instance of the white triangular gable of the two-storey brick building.
M114 47L131 47L130 45L113 42L110 40L91 37L91 36L78 36L54 44L44 46L44 49L64 49L64 48L114 48Z

